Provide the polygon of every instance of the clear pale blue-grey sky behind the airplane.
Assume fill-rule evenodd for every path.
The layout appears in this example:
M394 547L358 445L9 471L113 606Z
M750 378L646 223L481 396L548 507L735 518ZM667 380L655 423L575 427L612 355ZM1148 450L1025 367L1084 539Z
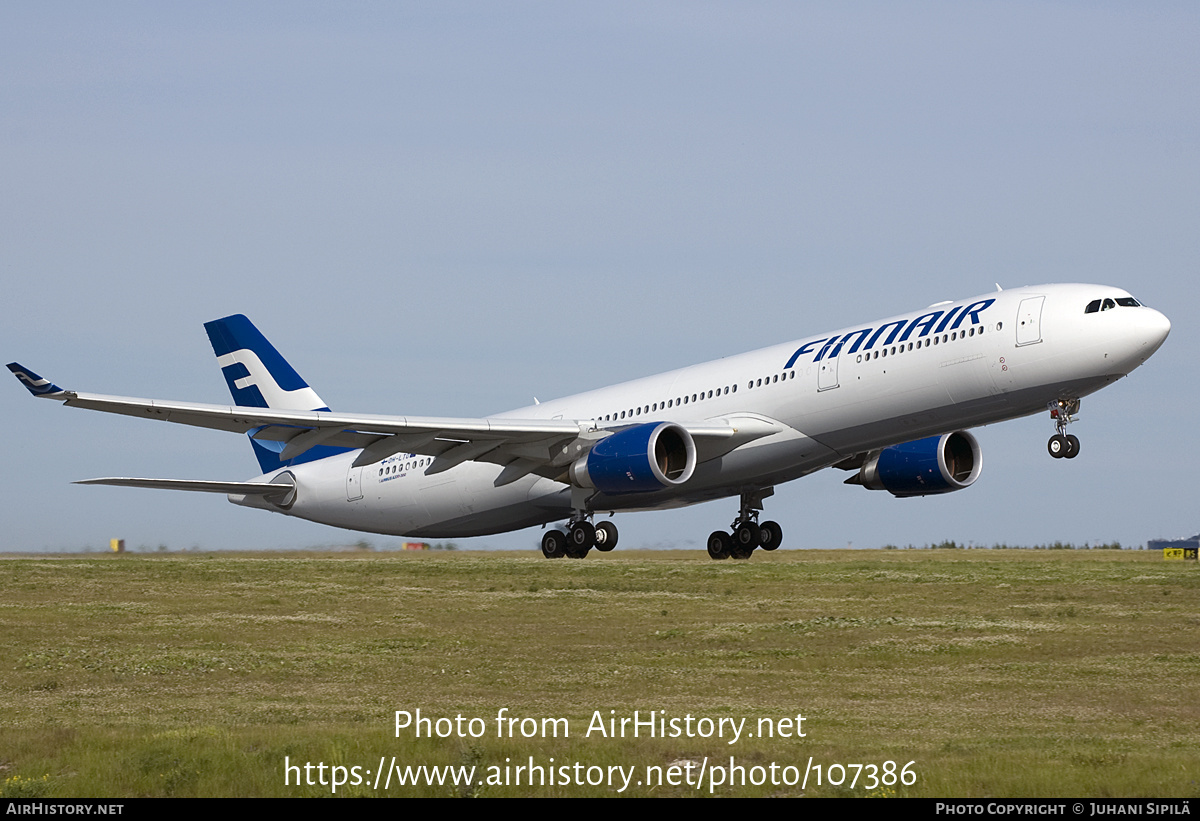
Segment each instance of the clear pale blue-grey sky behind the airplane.
M1099 282L1174 330L1084 401L1078 460L1039 415L977 431L967 491L827 472L768 515L794 547L1192 534L1198 35L1183 2L4 4L0 352L226 402L202 324L244 312L337 409L474 417L996 282ZM245 479L241 437L14 379L0 415L0 549L359 538L70 484ZM620 516L622 545L698 549L734 513Z

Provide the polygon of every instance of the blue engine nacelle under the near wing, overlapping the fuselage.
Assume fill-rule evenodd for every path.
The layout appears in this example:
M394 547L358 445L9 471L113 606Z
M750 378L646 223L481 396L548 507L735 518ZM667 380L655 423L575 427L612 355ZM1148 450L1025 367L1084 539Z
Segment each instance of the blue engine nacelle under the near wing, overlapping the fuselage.
M696 443L674 423L647 423L600 439L571 465L571 483L617 496L652 493L691 479Z

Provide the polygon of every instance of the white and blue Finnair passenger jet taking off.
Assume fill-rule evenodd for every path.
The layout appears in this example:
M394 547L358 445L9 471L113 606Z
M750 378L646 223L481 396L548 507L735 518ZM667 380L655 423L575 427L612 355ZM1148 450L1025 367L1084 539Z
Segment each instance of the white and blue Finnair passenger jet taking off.
M484 419L335 413L240 314L205 324L234 407L83 394L8 368L70 406L248 433L262 468L242 483L79 484L226 493L416 538L565 521L542 538L548 558L612 550L617 528L596 514L738 497L731 529L708 539L724 559L775 550L763 499L821 468L901 497L962 490L983 466L964 429L1046 409L1050 455L1074 459L1080 397L1145 362L1170 328L1117 288L997 289Z

